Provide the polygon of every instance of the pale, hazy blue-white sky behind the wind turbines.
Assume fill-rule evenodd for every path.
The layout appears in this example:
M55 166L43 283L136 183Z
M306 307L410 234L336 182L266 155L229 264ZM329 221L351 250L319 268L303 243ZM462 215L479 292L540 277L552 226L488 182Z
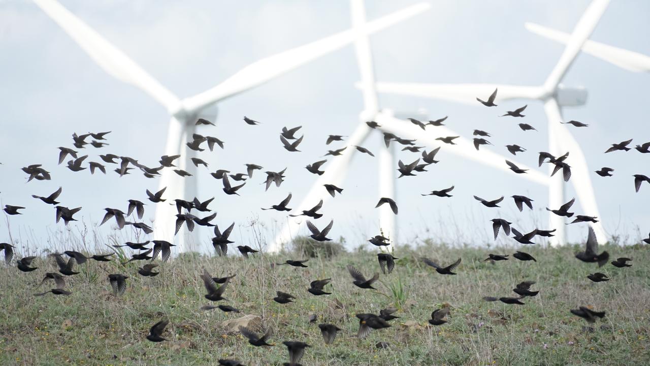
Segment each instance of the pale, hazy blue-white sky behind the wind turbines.
M374 70L377 81L419 83L508 83L541 85L562 53L563 46L529 33L525 21L532 21L570 33L588 1L428 1L430 10L372 35ZM300 46L351 26L346 1L76 1L62 5L129 55L144 70L177 96L192 96L213 87L244 66L263 57ZM415 1L367 1L367 18L372 20ZM592 40L650 55L650 3L612 2L597 25ZM0 202L25 206L21 216L0 220L0 242L14 240L23 251L43 249L57 240L83 236L94 230L93 240L118 235L133 238L128 231L116 232L114 224L92 229L101 222L105 207L126 209L128 199L146 200L145 190L157 190L156 180L142 175L119 178L115 173L90 175L73 173L57 165L58 147L72 147L72 133L112 131L108 147L87 148L88 161L98 154L133 156L149 166L164 154L168 114L144 92L104 72L42 10L29 1L0 0ZM293 195L298 204L315 176L303 167L320 160L327 150L329 134L349 135L359 123L361 93L354 48L325 55L250 91L218 104L216 127L199 133L226 141L224 150L201 154L208 169L199 169L200 199L215 197L214 223L227 227L235 222L231 239L253 247L273 239L287 216L261 211ZM633 174L650 175L648 158L631 150L604 155L611 143L634 138L633 143L650 141L646 116L650 104L650 75L617 68L590 55L578 55L565 76L567 86L588 89L586 106L564 109L566 120L580 120L588 128L571 128L582 146L590 171L614 167L611 178L591 176L601 220L610 238L630 244L650 231L650 186L634 193ZM486 96L482 96L486 97ZM539 132L522 132L512 120L496 118L500 111L528 103L526 122ZM517 160L536 166L538 151L548 150L547 120L541 102L513 100L498 111L475 106L414 98L380 95L380 107L408 115L425 113L429 119L448 115L447 126L465 137L477 128L493 134L487 147L508 154L504 145L516 143L528 149ZM262 122L248 126L247 115ZM278 134L283 126L302 125L302 152L287 152ZM382 143L375 133L363 144L378 151ZM428 150L433 147L427 147ZM437 156L440 163L418 177L396 182L398 243L416 246L429 238L450 245L494 245L492 218L513 221L522 231L548 229L547 190L479 163L448 152ZM399 150L399 149L398 149ZM446 151L447 150L447 151ZM419 155L398 151L398 159L411 162ZM20 171L42 163L52 173L50 181L26 183ZM216 169L244 172L244 163L256 163L265 170L287 169L280 188L265 192L259 183L263 174L240 191L241 197L226 196L222 184L208 173ZM325 165L327 169L327 165ZM546 169L544 169L546 171ZM450 199L422 197L420 193L456 186ZM63 187L64 206L83 206L80 221L66 228L55 223L55 210L33 199L32 194L49 195ZM331 238L343 238L346 246L369 245L365 241L379 233L378 160L355 156L341 187L343 195L328 201L318 226L335 220ZM502 208L486 208L473 199L478 195L496 199L501 195L526 195L534 199L534 210L519 213L512 199ZM570 182L565 197L574 196ZM148 201L147 201L148 202ZM291 206L291 205L290 205ZM575 206L580 213L579 206ZM146 206L145 221L153 219L153 204ZM203 250L209 250L211 232L198 232ZM307 234L302 227L300 234ZM569 241L586 237L586 226L569 225ZM68 238L68 239L66 239ZM85 242L85 240L83 240ZM543 242L543 241L541 241ZM364 244L366 243L366 244ZM83 243L82 243L83 244ZM87 245L88 243L86 243ZM499 238L497 244L513 244ZM25 249L27 248L27 249Z

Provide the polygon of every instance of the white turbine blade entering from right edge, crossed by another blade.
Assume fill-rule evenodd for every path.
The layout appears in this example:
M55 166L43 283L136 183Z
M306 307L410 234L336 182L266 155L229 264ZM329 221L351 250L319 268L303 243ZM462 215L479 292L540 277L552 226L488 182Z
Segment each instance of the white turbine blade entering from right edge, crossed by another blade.
M571 37L571 35L567 33L556 31L555 29L535 23L525 23L525 27L528 31L535 33L536 35L563 44L569 42L569 38ZM609 46L608 44L595 42L593 40L586 40L584 45L582 45L582 51L628 71L650 72L650 57L643 55L642 53Z

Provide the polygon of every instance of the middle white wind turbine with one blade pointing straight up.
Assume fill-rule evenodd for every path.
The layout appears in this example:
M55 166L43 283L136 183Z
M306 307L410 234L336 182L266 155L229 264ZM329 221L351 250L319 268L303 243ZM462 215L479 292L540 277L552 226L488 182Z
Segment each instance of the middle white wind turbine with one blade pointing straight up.
M435 128L435 135L430 130L422 132L421 128L415 126L411 122L406 120L398 119L393 115L393 112L389 109L380 109L377 98L377 90L374 81L374 70L372 64L372 53L370 51L370 43L367 36L367 32L364 31L365 23L365 10L363 6L363 0L352 0L352 25L356 31L356 40L355 40L355 50L357 56L357 63L359 64L359 73L361 74L361 83L360 89L363 94L363 105L364 109L359 114L359 124L350 135L346 141L346 148L341 156L336 156L332 161L326 165L324 168L325 173L318 176L316 182L313 184L309 193L305 196L298 206L294 208L296 212L301 210L306 210L311 206L314 206L321 199L327 201L330 195L326 190L323 189L323 184L334 184L339 185L343 182L345 175L347 173L348 166L352 160L352 156L356 152L354 145L362 145L363 141L369 136L372 129L367 126L365 122L369 120L375 120L378 122L381 127L382 132L389 132L395 134L399 137L406 139L417 139L417 142L420 145L426 145L427 147L436 147L439 145L439 141L435 141L435 137L440 135L458 135L456 132L450 130L445 126L439 126ZM476 151L471 140L459 137L454 140L457 144L456 146L441 149L440 153L450 152L452 154L457 154L463 158L474 160L476 162L483 163L495 169L512 173L504 160L506 157L491 152L489 150L480 150ZM395 156L393 147L395 142L391 143L391 147L386 148L381 145L381 150L379 152L378 162L379 162L379 196L378 197L389 197L395 198ZM519 167L523 169L530 169L528 174L517 175L519 178L525 178L532 182L538 184L548 185L549 177L540 173L536 169L531 169L523 163L516 162L510 158L508 160L515 162ZM380 210L380 219L379 227L383 233L383 236L386 236L390 239L391 243L396 242L396 225L395 225L395 214L391 211L387 204L384 204L379 208ZM269 251L279 251L282 249L283 244L289 243L292 240L292 237L296 235L302 220L298 219L289 219L287 223L283 226L281 231L276 236L272 246L268 249ZM389 251L391 248L387 248Z

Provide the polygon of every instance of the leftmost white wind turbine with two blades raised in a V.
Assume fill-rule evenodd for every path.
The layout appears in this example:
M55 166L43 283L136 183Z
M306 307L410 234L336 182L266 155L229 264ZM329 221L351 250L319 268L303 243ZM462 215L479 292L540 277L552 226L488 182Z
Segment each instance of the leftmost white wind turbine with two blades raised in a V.
M195 122L201 113L205 113L207 108L220 100L257 87L298 66L342 48L351 43L357 35L356 31L349 29L304 46L266 57L242 68L242 70L212 89L195 96L179 99L138 66L135 61L62 7L56 0L34 0L34 3L57 22L105 72L116 77L116 79L142 89L167 109L171 118L168 125L164 154L169 156L181 155L181 158L176 161L179 169L185 169L192 174L194 173L194 165L190 162L190 158L194 157L194 151L185 148L184 145L188 137L194 134L196 130ZM419 14L428 8L429 5L426 3L404 8L370 21L365 25L364 30L367 33L375 33ZM196 196L196 178L194 176L181 178L172 169L162 169L160 188L164 187L167 188L164 197L167 197L168 201L175 198L191 200ZM174 240L174 214L174 206L157 204L153 228L155 239ZM190 250L192 249L189 247L190 245L198 244L196 241L192 242L187 239L183 238L183 236L177 238L176 244L179 246L179 251Z

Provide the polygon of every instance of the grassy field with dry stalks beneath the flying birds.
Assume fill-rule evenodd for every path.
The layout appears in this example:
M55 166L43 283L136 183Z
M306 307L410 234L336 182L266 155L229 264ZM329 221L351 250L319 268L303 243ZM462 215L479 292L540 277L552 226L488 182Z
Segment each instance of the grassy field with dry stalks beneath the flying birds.
M538 262L507 260L482 262L491 253L513 253L513 248L450 248L426 245L396 248L393 274L382 275L378 290L352 285L346 265L365 275L379 272L376 251L341 253L314 258L309 268L276 266L272 262L298 259L296 255L209 257L181 255L161 263L157 277L141 277L138 263L94 262L68 278L70 296L32 296L44 272L54 272L51 259L36 259L39 269L22 273L0 268L0 365L215 365L234 358L244 365L278 365L288 360L282 341L311 345L304 365L648 365L650 364L650 253L646 247L608 246L612 257L627 256L631 268L597 266L573 258L577 247L526 247ZM128 253L127 253L128 254ZM439 275L418 260L426 255L439 262L463 259L458 275ZM205 267L214 276L237 273L225 296L241 314L201 311L205 290L198 277ZM586 275L600 271L612 277L591 283ZM110 293L107 274L129 275L120 298ZM310 281L332 278L330 296L312 296ZM541 292L526 305L484 302L483 296L514 296L523 280L537 281ZM44 289L49 289L44 285ZM272 301L276 290L298 299L281 305ZM343 309L334 300L343 304ZM451 313L443 326L428 326L435 307L448 303ZM569 309L590 305L607 311L592 332ZM355 313L378 313L398 307L400 318L386 330L354 337ZM222 322L244 314L263 318L272 328L271 343L257 348ZM318 315L310 324L308 317ZM145 339L149 327L166 318L169 341ZM344 331L325 346L317 324L330 322ZM383 341L388 348L376 348Z

